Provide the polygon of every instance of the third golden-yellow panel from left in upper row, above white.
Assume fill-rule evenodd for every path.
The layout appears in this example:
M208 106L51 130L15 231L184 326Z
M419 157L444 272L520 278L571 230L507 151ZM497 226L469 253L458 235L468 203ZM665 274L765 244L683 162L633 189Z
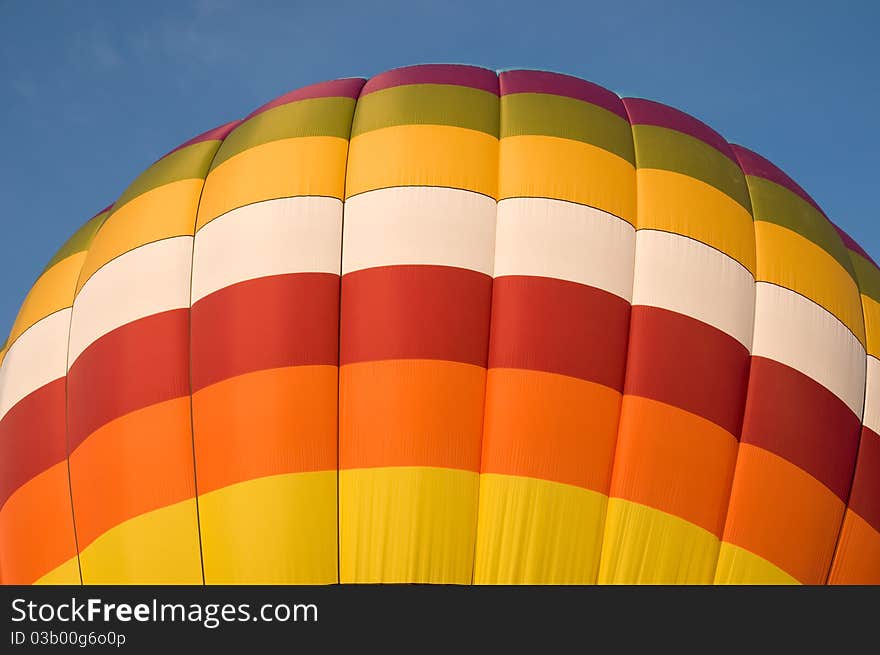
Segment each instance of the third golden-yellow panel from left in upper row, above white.
M197 228L238 207L292 196L342 199L348 141L310 136L281 139L230 157L208 175Z

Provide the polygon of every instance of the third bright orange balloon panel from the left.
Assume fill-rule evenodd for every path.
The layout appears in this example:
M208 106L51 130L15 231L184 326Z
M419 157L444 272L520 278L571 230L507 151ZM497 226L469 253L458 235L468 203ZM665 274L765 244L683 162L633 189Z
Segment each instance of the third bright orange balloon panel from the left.
M280 473L336 469L335 366L239 375L193 394L199 493Z

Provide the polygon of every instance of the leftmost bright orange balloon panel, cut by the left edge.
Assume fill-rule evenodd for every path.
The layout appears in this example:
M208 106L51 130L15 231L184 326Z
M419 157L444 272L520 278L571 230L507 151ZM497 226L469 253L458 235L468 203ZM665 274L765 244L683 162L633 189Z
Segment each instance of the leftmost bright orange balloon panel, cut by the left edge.
M67 462L49 467L21 487L0 511L3 584L33 584L76 556Z

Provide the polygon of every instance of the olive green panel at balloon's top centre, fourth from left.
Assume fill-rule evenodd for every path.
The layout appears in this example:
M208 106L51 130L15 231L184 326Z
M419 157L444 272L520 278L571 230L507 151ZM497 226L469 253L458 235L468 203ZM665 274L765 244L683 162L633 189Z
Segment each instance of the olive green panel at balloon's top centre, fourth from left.
M407 84L358 100L352 138L394 125L451 125L498 137L498 96L453 84Z

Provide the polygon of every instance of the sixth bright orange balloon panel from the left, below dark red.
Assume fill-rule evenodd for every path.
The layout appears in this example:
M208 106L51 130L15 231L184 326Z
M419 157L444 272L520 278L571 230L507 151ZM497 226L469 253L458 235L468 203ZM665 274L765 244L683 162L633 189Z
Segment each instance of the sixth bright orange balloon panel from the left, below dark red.
M626 395L611 496L681 517L721 536L737 441L711 421Z

